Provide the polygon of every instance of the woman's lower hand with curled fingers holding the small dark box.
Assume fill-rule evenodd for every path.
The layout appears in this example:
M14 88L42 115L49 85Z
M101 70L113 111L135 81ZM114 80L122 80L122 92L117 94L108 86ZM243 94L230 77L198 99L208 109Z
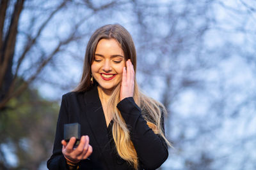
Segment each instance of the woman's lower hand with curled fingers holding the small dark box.
M68 143L65 140L61 141L61 144L63 145L62 153L66 159L77 163L80 160L87 159L92 154L92 146L89 145L88 136L82 136L77 148L73 149L75 143L76 138L74 137L70 138Z

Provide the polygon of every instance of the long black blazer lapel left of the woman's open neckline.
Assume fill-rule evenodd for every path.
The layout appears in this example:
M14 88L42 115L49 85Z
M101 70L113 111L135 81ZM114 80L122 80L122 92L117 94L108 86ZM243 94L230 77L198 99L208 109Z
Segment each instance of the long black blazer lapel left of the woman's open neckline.
M100 154L107 164L113 164L108 129L96 85L84 93L84 102L86 103L86 118L93 132L93 138L96 139L100 148Z

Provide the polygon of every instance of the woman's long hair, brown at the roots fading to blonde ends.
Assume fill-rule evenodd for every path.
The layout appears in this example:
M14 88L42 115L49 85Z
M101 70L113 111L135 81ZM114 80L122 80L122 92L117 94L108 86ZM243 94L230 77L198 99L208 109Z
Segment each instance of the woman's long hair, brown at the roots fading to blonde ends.
M86 47L86 54L84 57L84 66L83 66L83 74L79 85L74 89L76 92L84 92L90 90L92 87L91 75L91 65L93 62L95 50L97 47L97 43L100 39L116 39L122 50L124 51L125 60L131 59L132 65L134 66L134 71L136 73L136 50L134 43L132 41L132 37L129 32L122 27L121 25L104 25L97 29L92 34L92 37L88 41L88 45ZM94 81L94 83L97 83ZM145 96L138 89L138 84L135 80L134 82L134 101L141 108L141 115L147 121L148 127L150 127L155 134L159 134L167 145L171 146L169 141L164 136L163 130L163 114L166 114L166 110L164 109L163 104L158 103L154 99ZM108 113L113 117L113 139L115 141L116 150L118 155L122 157L122 159L126 160L134 167L134 169L138 169L138 156L134 145L132 144L131 137L129 134L129 129L125 124L124 119L120 111L116 108L116 105L120 102L120 83L113 90L113 93L108 101Z

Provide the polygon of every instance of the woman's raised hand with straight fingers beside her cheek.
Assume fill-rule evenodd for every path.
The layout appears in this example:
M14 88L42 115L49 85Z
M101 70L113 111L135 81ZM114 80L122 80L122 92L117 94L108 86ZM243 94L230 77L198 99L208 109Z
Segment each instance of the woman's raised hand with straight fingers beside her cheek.
M134 94L134 68L131 60L126 61L126 69L123 68L122 84L120 90L120 101Z

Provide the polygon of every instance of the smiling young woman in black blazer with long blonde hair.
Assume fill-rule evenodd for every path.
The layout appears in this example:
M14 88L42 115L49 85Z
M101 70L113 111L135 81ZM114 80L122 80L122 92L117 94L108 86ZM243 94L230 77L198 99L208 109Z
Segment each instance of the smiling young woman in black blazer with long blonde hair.
M62 97L49 169L157 169L168 157L164 106L138 90L136 50L121 25L90 38L77 88ZM64 124L81 124L81 141L63 140Z

